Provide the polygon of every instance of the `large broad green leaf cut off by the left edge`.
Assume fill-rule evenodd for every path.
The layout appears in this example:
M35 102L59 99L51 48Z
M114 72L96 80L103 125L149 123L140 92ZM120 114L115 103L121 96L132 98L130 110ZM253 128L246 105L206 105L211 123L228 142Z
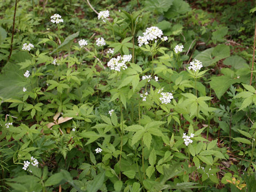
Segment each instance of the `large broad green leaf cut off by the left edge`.
M22 89L27 85L27 78L23 76L26 69L20 69L17 63L24 62L26 59L31 60L30 55L25 51L20 51L12 55L10 61L2 68L3 73L0 74L0 97L4 99L22 97Z

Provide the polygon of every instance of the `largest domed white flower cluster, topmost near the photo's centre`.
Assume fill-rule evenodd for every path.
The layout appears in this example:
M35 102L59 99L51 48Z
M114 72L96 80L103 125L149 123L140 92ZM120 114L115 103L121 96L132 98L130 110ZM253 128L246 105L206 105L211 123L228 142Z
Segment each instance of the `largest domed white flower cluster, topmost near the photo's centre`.
M161 38L163 35L163 31L159 29L158 27L149 27L146 29L146 32L143 33L143 36L138 37L138 43L139 46L142 46L143 44L147 45L148 41L153 41L154 39ZM163 37L163 39L166 39L167 37Z

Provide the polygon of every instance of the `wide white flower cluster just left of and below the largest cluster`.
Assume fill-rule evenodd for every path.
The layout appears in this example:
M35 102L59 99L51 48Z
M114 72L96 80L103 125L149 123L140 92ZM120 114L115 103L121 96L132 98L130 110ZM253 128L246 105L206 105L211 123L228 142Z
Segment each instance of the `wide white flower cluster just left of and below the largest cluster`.
M116 71L120 71L121 69L125 70L127 69L126 62L131 61L131 59L132 55L123 55L123 57L118 55L117 58L110 59L107 66Z

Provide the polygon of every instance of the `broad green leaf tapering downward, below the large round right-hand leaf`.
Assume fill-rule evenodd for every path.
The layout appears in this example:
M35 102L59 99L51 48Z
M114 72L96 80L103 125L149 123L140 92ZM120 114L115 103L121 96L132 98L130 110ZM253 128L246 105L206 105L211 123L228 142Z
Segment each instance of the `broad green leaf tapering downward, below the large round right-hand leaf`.
M239 83L238 79L232 79L227 76L212 77L210 86L214 90L218 99L229 89L229 87L235 83Z

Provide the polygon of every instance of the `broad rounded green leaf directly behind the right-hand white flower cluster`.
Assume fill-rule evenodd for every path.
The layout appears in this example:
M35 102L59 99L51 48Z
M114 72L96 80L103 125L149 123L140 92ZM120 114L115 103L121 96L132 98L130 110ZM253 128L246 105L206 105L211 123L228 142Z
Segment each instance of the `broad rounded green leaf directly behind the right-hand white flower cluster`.
M230 48L227 45L217 45L207 49L198 55L195 59L201 61L204 67L213 65L215 62L230 56Z

